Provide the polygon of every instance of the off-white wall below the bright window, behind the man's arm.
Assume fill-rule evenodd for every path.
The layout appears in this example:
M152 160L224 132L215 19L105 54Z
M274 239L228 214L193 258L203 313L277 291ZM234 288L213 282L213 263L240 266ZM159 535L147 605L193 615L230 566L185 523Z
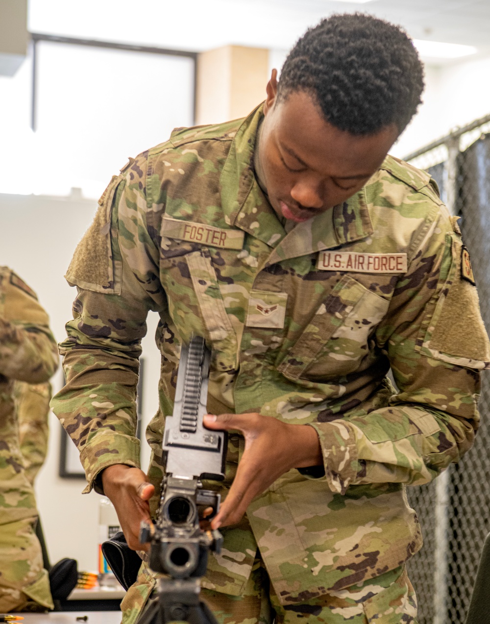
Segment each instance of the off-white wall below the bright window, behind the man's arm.
M63 278L71 256L97 207L95 200L74 197L0 194L0 265L11 266L39 296L50 316L57 341L65 338L75 289ZM148 319L143 341L146 360L143 389L143 431L158 406L160 356L155 346L158 317ZM61 371L52 380L62 384ZM36 495L49 556L78 560L82 570L97 570L98 494L82 496L85 480L61 479L58 474L61 426L50 414L50 441L46 464L36 481ZM148 465L149 447L142 444L142 466Z

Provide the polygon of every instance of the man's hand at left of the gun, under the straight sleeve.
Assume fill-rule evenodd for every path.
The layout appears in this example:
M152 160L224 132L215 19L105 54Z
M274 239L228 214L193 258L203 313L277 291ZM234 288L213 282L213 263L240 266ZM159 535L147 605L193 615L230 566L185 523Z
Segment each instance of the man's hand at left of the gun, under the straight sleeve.
M148 551L150 544L140 544L140 523L150 522L148 500L155 487L139 468L114 464L102 472L104 494L115 507L124 537L132 550Z

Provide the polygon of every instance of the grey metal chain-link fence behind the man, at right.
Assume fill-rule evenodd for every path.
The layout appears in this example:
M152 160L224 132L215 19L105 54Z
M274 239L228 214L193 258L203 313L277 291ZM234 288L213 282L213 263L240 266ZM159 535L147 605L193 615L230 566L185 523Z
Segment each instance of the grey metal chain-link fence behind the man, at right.
M449 212L461 217L483 320L490 330L490 115L405 160L435 178ZM407 488L424 535L423 548L408 563L419 624L464 623L490 532L490 384L483 377L482 421L473 448L435 482Z

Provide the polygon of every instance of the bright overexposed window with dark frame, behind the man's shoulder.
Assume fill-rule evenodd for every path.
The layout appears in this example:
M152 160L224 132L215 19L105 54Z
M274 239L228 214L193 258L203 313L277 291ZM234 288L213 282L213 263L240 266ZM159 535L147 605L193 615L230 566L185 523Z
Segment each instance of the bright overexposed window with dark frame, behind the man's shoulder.
M100 197L128 157L192 124L193 59L46 41L36 49L36 132L32 46L15 76L0 76L0 193L77 187Z

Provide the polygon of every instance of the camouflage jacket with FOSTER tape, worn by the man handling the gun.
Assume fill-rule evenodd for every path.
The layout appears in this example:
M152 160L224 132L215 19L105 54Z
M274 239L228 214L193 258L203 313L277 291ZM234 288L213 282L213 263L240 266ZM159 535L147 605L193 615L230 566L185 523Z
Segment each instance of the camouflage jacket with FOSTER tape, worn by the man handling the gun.
M177 129L113 178L67 273L79 292L60 345L67 385L52 405L89 488L110 464L138 466L138 356L156 310L153 510L162 414L191 334L213 348L209 411L315 427L325 474L291 470L257 497L203 583L239 595L258 544L287 604L421 547L405 485L471 446L490 354L456 221L430 176L387 157L348 202L286 233L254 177L261 116ZM229 479L241 446L232 436Z

